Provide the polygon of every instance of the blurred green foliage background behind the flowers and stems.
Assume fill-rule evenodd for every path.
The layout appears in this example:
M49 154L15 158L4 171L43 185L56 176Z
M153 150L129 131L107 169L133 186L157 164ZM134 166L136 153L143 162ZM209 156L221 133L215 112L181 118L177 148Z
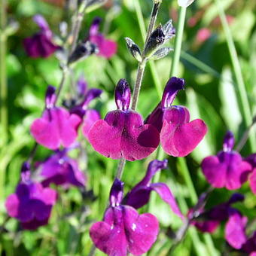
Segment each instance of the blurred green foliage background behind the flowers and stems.
M124 37L132 38L136 44L143 46L142 32L138 17L142 10L145 23L151 13L151 0L110 1L102 8L86 14L79 38L87 38L88 29L93 17L102 17L101 31L108 38L117 41L117 54L111 59L90 56L75 68L66 83L62 98L70 96L70 84L81 73L84 74L89 87L104 90L101 99L96 100L91 107L97 108L102 117L115 108L113 100L114 86L120 78L126 78L131 86L135 82L137 63L126 49ZM242 0L226 0L224 8L230 24L246 91L252 112L256 113L256 2ZM7 73L8 73L8 141L0 139L0 224L6 218L5 198L14 192L19 181L20 166L26 160L33 139L29 135L29 126L44 109L44 93L48 84L58 86L61 78L59 62L54 56L47 59L32 59L23 49L23 38L38 31L32 16L42 14L50 24L50 28L59 35L59 23L66 17L62 1L9 0L8 22L18 23L19 28L8 38ZM176 1L163 0L157 23L166 23L172 18L177 25L178 5ZM203 30L202 30L203 29ZM233 78L233 69L227 41L218 17L218 9L210 0L196 0L187 8L184 27L179 77L186 81L186 90L178 93L178 102L190 109L191 119L202 118L209 127L209 133L200 146L186 157L187 167L192 178L194 189L200 195L209 187L204 178L200 162L203 157L215 154L221 150L222 139L227 130L231 130L236 142L242 138L246 127L242 124L241 104L237 87ZM174 41L170 46L173 47ZM156 85L163 88L169 79L172 63L172 53L164 59L148 65L142 82L138 111L147 117L159 101ZM1 69L1 68L0 68ZM177 103L177 102L176 102ZM2 126L1 126L2 129ZM1 138L0 131L0 138ZM59 200L53 207L50 224L35 231L20 230L17 221L7 221L6 232L0 236L0 251L2 255L88 255L92 245L88 230L90 225L102 218L108 193L114 178L117 160L107 159L93 151L88 142L83 139L87 157L80 159L81 168L87 173L87 190L93 190L96 200L83 198L76 187L68 191L57 188ZM242 148L242 156L251 154L248 144ZM39 147L35 161L44 160L50 151ZM73 152L76 157L77 152ZM145 175L148 162L156 154L146 160L126 164L123 181L125 191L133 187ZM166 156L167 157L167 156ZM161 172L161 181L166 182L178 198L183 213L187 207L194 205L193 194L187 187L183 175L183 166L174 157L169 159L169 169ZM4 175L5 173L5 175ZM256 201L248 184L239 190L245 194L245 202L237 203L236 207L252 220L256 215ZM227 200L232 191L215 190L209 198L206 207L214 206ZM146 209L146 208L145 208ZM145 210L142 209L142 212ZM157 197L151 213L159 218L161 232L149 255L168 255L172 245L169 233L181 226L181 221L175 217L165 203ZM172 230L172 231L171 231ZM207 242L208 241L208 242ZM215 247L215 249L213 249ZM175 250L175 255L220 255L228 251L224 241L224 229L221 226L217 232L209 236L198 233L192 227L190 233ZM230 253L231 254L231 253ZM228 255L230 255L228 254ZM102 255L97 251L96 255Z

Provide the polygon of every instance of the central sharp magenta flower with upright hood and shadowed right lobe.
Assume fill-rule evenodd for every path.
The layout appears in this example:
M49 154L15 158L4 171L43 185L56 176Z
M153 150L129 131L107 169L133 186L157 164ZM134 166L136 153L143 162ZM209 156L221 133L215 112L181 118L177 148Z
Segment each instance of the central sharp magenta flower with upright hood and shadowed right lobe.
M159 144L159 133L142 116L129 109L130 87L121 79L115 89L117 110L110 111L104 120L91 127L88 139L93 148L112 159L141 160L148 157Z

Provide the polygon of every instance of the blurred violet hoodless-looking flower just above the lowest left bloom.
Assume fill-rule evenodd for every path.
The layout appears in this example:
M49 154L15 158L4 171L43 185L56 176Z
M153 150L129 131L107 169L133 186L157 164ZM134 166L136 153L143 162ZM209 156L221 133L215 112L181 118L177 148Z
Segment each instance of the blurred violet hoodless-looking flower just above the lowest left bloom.
M44 187L50 183L69 187L70 185L84 187L86 177L79 169L76 160L67 155L67 150L56 151L41 165L41 175L45 178L42 181Z

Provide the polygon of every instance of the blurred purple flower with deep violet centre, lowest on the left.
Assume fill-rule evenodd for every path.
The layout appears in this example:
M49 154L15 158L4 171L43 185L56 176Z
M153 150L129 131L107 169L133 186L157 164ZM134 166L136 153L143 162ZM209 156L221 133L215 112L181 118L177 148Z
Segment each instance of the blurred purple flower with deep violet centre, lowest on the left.
M21 181L16 192L7 198L5 207L8 215L17 218L24 229L34 230L48 223L56 197L56 191L30 179L29 164L24 163Z

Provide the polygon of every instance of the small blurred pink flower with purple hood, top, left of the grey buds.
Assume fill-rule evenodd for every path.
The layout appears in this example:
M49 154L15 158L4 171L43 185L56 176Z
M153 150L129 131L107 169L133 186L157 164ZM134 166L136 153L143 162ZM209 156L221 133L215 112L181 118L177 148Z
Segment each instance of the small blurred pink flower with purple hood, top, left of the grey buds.
M90 26L89 41L99 48L99 56L107 59L111 58L117 52L117 43L105 38L104 35L99 33L99 23L101 19L96 17Z

